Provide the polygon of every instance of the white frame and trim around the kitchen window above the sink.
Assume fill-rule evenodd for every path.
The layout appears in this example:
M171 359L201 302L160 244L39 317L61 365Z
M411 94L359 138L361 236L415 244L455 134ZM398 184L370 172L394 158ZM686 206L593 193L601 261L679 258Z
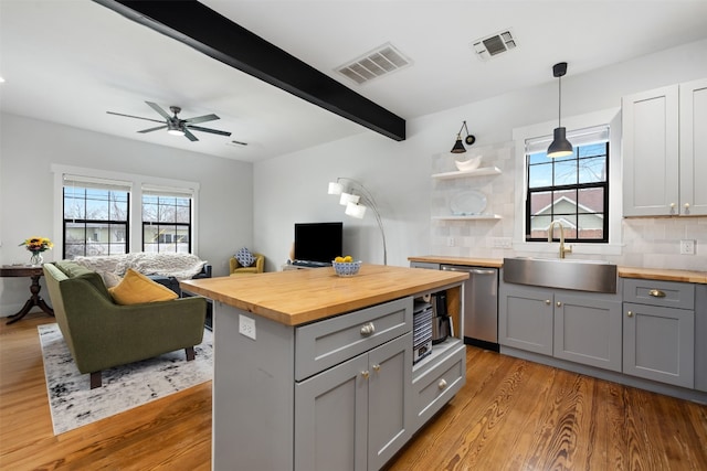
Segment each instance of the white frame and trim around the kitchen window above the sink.
M572 254L577 255L621 255L622 231L621 214L623 195L621 192L621 108L611 108L569 118L562 118L568 132L573 129L584 129L601 125L609 126L609 243L572 243ZM526 165L526 140L552 135L557 121L548 121L531 125L513 130L513 139L516 148L515 164L515 212L513 232L513 248L519 253L535 253L549 255L557 253L557 244L539 244L526 242L526 206L525 199L528 193L528 175Z

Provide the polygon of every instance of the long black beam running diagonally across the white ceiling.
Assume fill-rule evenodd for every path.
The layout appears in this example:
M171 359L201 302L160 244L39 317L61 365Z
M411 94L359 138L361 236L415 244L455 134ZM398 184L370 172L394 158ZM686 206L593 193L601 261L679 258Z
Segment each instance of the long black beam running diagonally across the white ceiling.
M94 0L336 115L405 139L405 120L196 0Z

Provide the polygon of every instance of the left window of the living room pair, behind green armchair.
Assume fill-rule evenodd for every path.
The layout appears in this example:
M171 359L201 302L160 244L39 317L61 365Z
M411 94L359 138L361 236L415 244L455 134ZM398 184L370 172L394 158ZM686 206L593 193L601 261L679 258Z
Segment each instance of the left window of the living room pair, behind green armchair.
M130 185L64 175L63 258L129 251Z

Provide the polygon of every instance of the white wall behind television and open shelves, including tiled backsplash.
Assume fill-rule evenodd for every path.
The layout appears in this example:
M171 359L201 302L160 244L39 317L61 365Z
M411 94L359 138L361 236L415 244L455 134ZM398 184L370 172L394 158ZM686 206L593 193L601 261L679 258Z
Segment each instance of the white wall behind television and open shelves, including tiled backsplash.
M618 108L623 95L707 77L707 41L577 76L572 75L571 57L567 60L562 115L571 117ZM408 139L403 142L362 131L346 140L256 163L254 246L266 254L267 269L278 269L286 261L295 222L344 221L345 251L365 261L382 263L373 217L349 218L336 199L327 195L327 182L336 176L363 182L378 201L388 236L389 265L407 266L407 257L413 255L515 255L490 246L494 237L513 237L514 202L523 197L513 188L516 162L511 133L514 128L540 122L547 122L548 135L552 132L557 126L557 86L548 66L548 83L542 86L408 120ZM493 183L484 182L493 212L504 217L499 222L431 221L430 175L440 171L437 160L452 148L463 120L477 138L468 153L482 152L484 165L504 170ZM634 266L704 270L706 220L624 221L625 247L613 259ZM445 244L450 235L455 237L455 247ZM677 255L680 238L697 239L698 254Z

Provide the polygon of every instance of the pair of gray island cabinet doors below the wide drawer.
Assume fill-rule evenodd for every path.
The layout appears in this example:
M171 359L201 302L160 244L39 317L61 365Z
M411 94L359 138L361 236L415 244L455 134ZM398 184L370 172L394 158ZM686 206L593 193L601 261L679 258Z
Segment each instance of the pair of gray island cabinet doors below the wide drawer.
M295 385L295 470L379 469L410 439L411 335Z

